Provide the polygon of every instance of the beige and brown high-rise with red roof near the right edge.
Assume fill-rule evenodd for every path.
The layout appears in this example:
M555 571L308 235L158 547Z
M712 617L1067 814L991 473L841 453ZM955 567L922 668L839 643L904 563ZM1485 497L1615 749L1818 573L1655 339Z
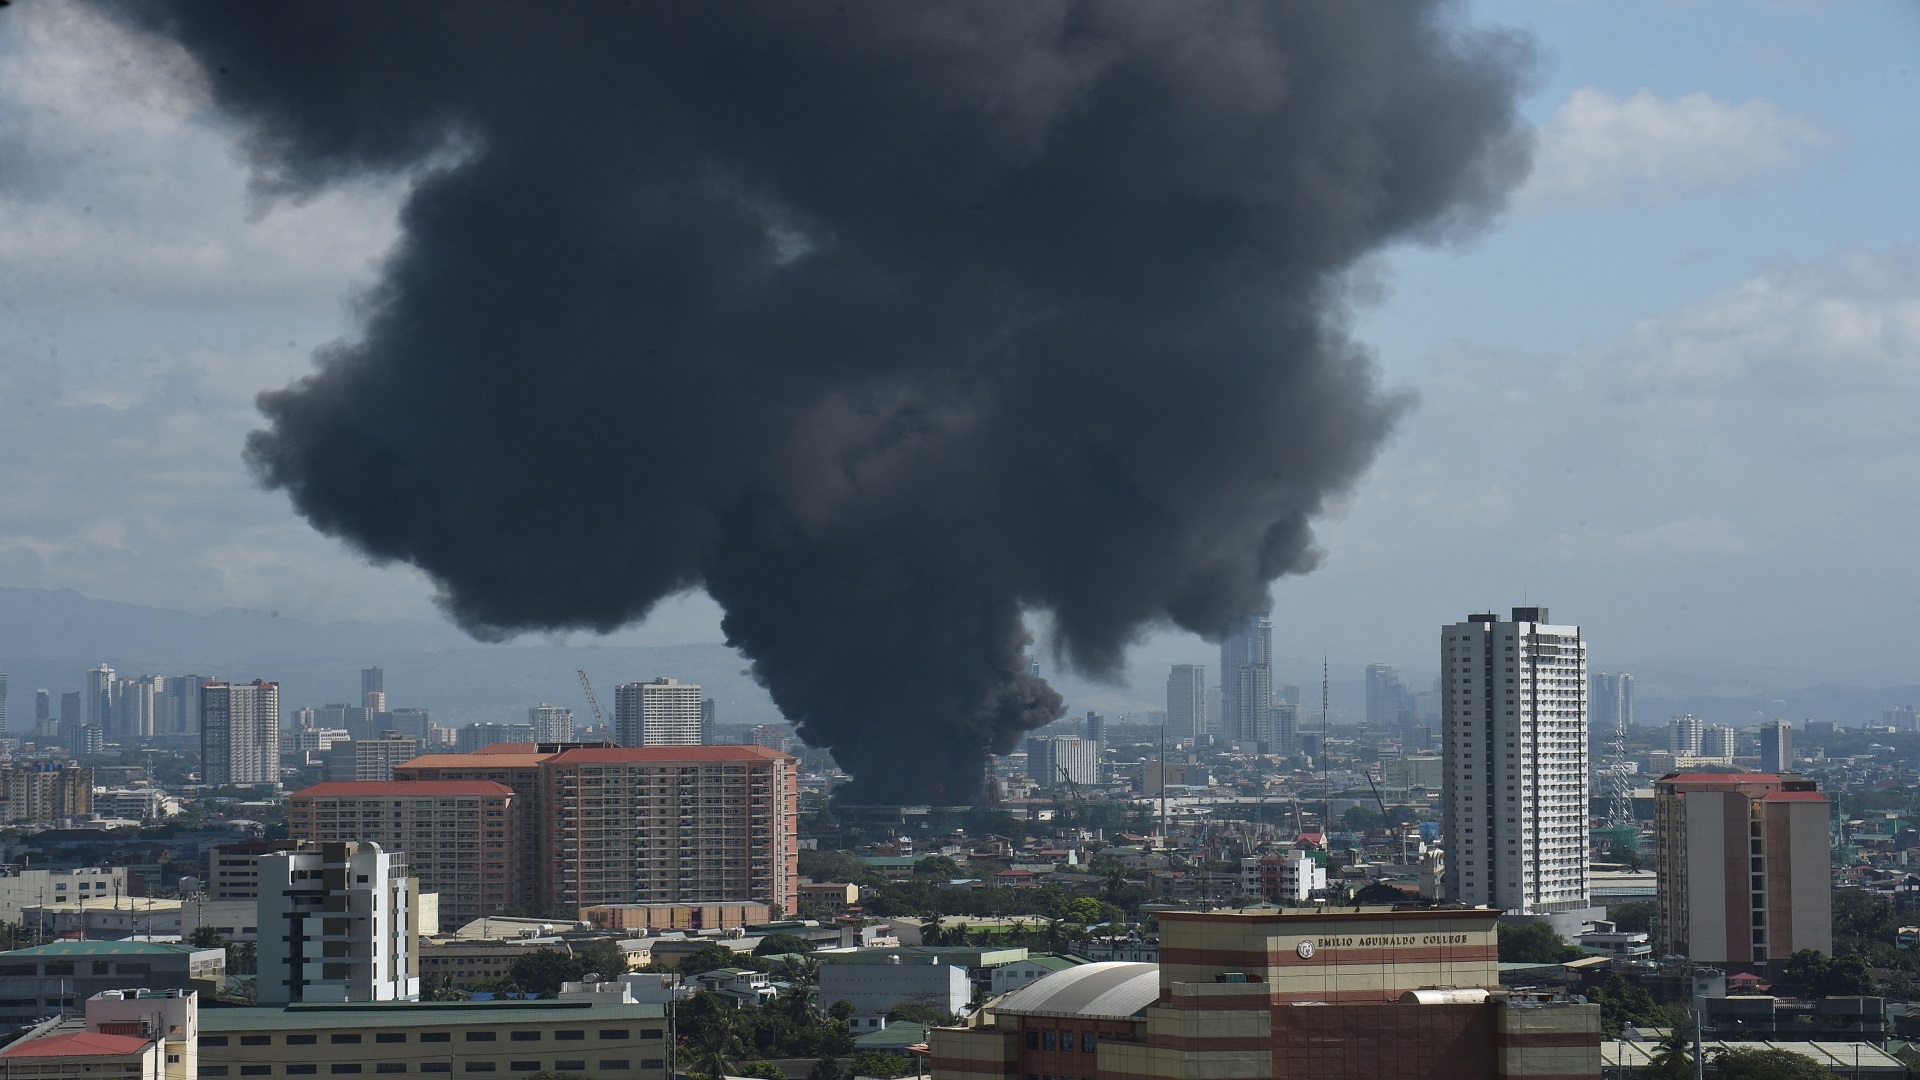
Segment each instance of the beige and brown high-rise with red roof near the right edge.
M1834 951L1828 801L1791 773L1653 782L1659 955L1763 969Z

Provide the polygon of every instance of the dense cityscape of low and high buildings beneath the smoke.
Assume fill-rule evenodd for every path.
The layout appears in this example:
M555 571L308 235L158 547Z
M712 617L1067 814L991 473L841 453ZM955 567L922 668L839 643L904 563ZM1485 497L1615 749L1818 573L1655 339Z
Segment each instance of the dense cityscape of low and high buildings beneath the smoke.
M1715 1045L1905 1068L1910 705L1866 726L1649 724L1634 675L1592 671L1544 607L1442 626L1438 659L1425 690L1367 665L1365 717L1334 723L1331 673L1279 680L1254 613L1217 667L1169 669L1164 711L1033 732L977 805L849 803L828 751L726 726L672 676L614 684L607 715L578 673L584 713L447 728L390 701L382 667L351 703L288 705L273 678L100 665L35 690L4 742L0 1024L21 1036L0 1055L52 1067L109 1036L179 1053L159 1028L115 1034L138 984L188 1009L204 1076L298 1076L240 1049L269 1028L326 1034L313 1061L336 1070L444 1070L430 1049L357 1057L340 1040L361 1020L326 1011L355 1003L386 1003L396 1047L620 1024L593 1045L616 1057L465 1047L463 1070L664 1078L705 1055L972 1080L1002 1076L991 1061L1066 1076L1048 1055L1071 1051L1160 1076L1140 1032L1164 1009L1231 1026L1329 997L1365 1032L1350 1049L1421 1059L1457 1024L1488 1076L1642 1074L1693 1022ZM1260 992L1202 994L1223 978ZM1404 1003L1442 992L1452 1011ZM1175 1047L1227 1053L1210 1038ZM1519 1070L1528 1045L1544 1057Z

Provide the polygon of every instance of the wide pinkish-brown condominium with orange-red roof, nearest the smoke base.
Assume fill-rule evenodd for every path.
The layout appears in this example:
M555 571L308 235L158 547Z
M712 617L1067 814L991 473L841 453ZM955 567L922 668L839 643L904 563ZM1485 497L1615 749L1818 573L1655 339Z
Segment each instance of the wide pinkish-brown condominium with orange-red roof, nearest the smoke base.
M751 899L795 907L795 759L766 746L430 753L396 780L493 780L520 805L524 905Z

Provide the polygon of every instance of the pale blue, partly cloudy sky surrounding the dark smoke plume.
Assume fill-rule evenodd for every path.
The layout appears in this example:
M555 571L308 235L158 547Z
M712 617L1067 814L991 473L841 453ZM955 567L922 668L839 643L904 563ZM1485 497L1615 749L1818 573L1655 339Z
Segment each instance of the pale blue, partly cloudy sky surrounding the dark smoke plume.
M1534 171L1486 234L1356 275L1419 405L1275 584L1277 678L1417 678L1440 625L1544 603L1674 692L1920 682L1920 6L1465 10L1536 40ZM351 334L405 184L263 202L177 52L0 12L0 586L434 619L240 461L255 394ZM718 638L701 596L614 636ZM1152 636L1135 682L1210 655Z

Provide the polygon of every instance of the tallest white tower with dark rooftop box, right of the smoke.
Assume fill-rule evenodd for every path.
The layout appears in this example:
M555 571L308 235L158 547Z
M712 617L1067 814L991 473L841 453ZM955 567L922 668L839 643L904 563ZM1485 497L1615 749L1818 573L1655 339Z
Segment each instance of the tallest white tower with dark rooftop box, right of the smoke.
M1588 907L1586 642L1546 607L1440 630L1446 896Z

